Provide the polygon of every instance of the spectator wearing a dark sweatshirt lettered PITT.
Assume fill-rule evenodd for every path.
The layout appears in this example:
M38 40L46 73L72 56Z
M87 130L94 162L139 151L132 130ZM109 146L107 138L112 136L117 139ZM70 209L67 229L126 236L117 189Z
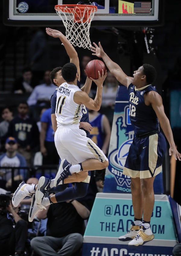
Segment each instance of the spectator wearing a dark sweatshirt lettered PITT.
M27 166L31 166L33 153L38 151L39 130L36 121L28 116L28 104L20 102L18 115L9 123L8 136L16 138L18 152L24 156Z

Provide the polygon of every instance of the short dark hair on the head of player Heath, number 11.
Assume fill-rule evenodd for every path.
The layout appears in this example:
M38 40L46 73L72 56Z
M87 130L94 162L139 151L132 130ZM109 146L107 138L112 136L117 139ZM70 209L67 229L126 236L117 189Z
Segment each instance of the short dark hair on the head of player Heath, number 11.
M76 78L77 67L74 63L67 63L62 68L62 77L66 82L73 82Z

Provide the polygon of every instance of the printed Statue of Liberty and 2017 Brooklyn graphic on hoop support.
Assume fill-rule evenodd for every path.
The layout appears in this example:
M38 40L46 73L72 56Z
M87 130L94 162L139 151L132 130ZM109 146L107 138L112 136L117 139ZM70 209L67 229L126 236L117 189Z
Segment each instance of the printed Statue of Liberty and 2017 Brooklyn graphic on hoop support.
M103 192L131 193L130 177L122 174L129 147L134 138L134 131L129 120L128 110L129 108L126 106L123 113L114 114L113 123L115 125L113 125L111 141L117 141L117 143L114 149L110 148L111 152L108 155L109 166L106 170L105 188ZM110 145L113 145L111 141ZM106 186L107 181L109 182L109 187Z

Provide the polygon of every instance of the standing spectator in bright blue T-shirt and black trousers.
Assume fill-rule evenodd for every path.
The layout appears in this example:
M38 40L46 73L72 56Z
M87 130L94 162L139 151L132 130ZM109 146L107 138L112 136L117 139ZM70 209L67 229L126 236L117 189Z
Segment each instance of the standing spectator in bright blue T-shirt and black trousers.
M43 155L43 165L58 165L57 153L51 121L51 108L45 110L41 116L40 151Z

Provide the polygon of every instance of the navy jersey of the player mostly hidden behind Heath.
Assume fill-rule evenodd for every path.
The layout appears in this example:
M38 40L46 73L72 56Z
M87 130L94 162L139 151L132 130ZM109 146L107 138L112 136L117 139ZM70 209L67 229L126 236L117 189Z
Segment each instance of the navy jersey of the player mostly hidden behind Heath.
M78 81L78 87L80 88L80 82ZM51 114L55 114L55 109L56 109L56 93L57 93L58 88L55 90L54 94L51 97ZM82 118L80 122L87 122L89 123L89 114L87 108L84 106L82 108ZM81 128L84 130L83 128ZM90 133L86 130L84 130L87 134L87 137L89 137Z

